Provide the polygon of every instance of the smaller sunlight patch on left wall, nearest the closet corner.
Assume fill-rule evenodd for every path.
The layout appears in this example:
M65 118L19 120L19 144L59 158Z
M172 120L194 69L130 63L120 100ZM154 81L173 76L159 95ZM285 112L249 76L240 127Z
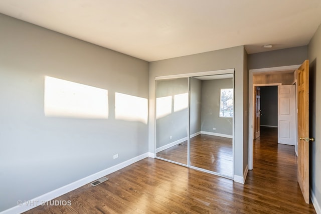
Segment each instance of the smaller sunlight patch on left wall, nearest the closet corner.
M115 93L115 119L147 124L147 117L148 101L146 98Z

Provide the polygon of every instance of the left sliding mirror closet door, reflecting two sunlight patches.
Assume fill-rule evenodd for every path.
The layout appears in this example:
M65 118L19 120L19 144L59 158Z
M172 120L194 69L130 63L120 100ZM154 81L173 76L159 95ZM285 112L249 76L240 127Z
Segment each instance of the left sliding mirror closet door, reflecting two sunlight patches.
M156 80L155 153L188 164L189 78Z

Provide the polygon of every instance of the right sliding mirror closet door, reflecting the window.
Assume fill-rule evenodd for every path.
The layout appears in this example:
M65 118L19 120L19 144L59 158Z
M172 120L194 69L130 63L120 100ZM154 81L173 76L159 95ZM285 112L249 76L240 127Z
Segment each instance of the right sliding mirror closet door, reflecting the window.
M233 177L233 74L190 79L190 166Z

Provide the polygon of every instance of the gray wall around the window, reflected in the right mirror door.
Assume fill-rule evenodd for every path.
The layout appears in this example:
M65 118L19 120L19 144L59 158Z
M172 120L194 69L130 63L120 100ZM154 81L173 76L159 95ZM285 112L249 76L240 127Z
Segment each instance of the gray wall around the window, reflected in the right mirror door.
M202 131L233 135L233 118L219 115L221 89L226 88L233 88L233 78L202 81Z

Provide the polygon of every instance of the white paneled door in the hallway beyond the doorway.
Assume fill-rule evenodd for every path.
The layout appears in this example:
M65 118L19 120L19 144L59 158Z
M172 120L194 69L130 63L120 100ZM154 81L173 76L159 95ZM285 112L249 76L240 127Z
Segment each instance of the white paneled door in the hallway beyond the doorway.
M295 85L278 86L278 143L295 145Z

